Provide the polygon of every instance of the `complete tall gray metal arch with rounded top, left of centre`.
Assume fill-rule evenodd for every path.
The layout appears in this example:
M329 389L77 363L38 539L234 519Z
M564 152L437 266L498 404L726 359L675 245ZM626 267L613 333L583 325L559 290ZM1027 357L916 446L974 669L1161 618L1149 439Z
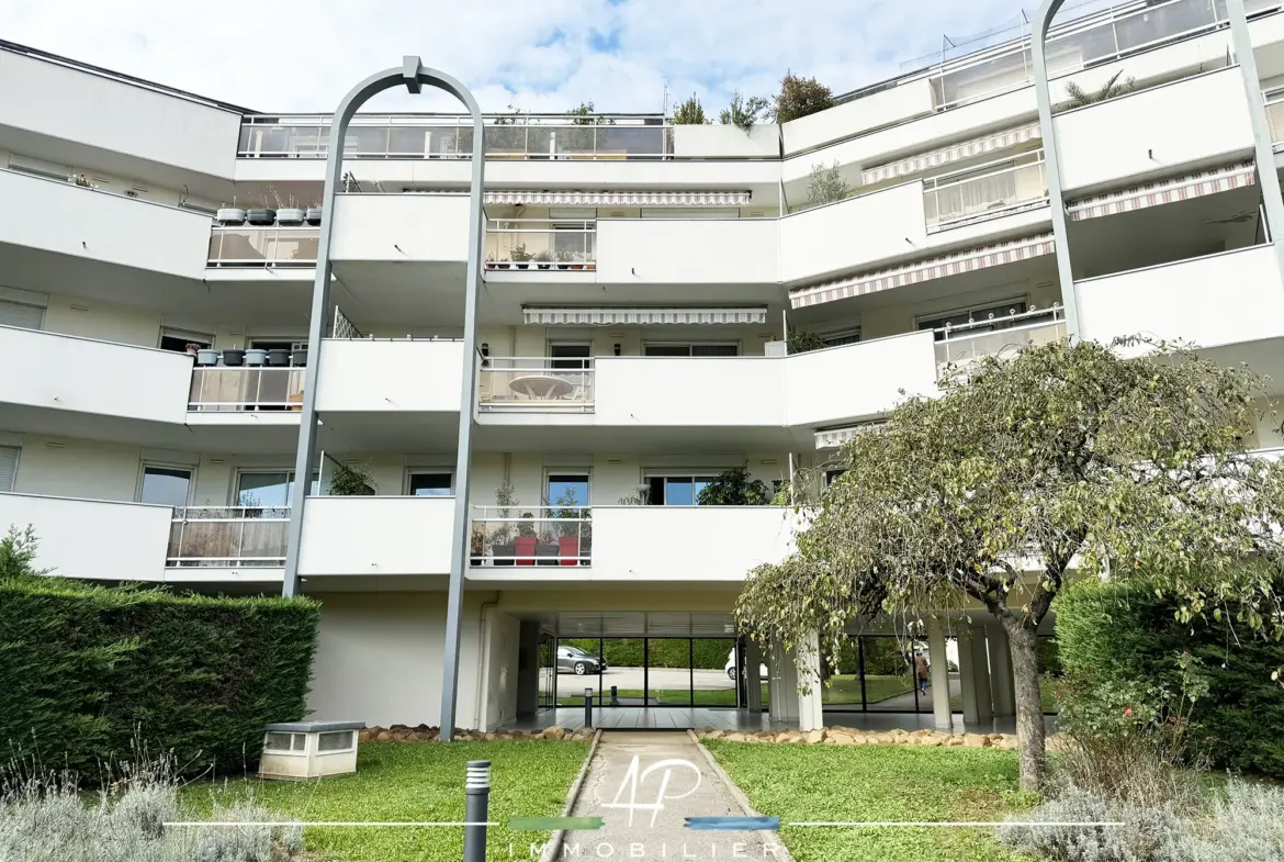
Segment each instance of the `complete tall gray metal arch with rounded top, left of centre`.
M460 624L464 606L464 563L469 550L469 484L473 457L473 414L476 402L476 306L482 280L482 185L485 171L482 109L467 87L444 72L425 68L417 57L403 57L399 68L376 72L352 89L339 103L330 123L326 155L325 194L317 247L317 277L312 288L312 320L308 344L312 367L303 384L303 415L299 419L299 447L294 459L295 492L290 507L289 545L285 554L285 581L281 594L293 596L299 585L299 550L303 543L303 506L312 486L316 461L317 378L321 374L321 339L330 310L330 239L334 234L335 193L343 172L343 143L348 123L371 96L398 85L421 92L424 85L446 90L467 107L473 117L473 179L469 186L469 262L464 281L464 380L460 396L460 434L455 468L455 542L451 551L451 590L446 613L446 655L442 668L442 740L449 741L455 728L455 704L460 678Z

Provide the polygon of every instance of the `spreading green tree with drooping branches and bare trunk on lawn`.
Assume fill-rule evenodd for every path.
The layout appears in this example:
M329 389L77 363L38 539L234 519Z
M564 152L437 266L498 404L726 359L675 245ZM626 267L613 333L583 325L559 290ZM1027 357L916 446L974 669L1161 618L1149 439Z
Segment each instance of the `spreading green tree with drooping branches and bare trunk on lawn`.
M797 552L750 573L741 626L786 649L819 632L836 655L878 613L985 609L1012 653L1021 785L1037 789L1035 635L1072 574L1144 576L1180 618L1284 637L1284 469L1243 443L1265 394L1244 367L1140 339L946 369L939 397L845 446Z

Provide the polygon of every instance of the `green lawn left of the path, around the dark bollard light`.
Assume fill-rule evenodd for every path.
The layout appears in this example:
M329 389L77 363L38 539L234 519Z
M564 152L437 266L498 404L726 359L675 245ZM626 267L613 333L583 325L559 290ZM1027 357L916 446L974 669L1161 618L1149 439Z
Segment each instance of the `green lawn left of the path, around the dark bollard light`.
M299 820L322 821L461 821L464 820L464 764L490 761L490 856L508 843L514 856L528 858L532 841L544 843L548 832L512 832L512 816L560 814L566 791L579 772L588 743L362 743L357 773L321 781L236 780L191 784L184 804L195 816L207 813L213 800L231 804L249 794L268 811ZM322 859L343 862L457 862L464 848L462 827L369 829L308 827L306 849Z

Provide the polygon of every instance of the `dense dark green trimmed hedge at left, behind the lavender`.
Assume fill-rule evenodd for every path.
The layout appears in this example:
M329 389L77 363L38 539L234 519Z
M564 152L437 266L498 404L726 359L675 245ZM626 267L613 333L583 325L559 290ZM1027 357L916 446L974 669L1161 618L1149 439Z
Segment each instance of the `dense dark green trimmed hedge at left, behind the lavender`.
M318 605L0 582L0 762L92 777L136 741L186 775L252 768L304 716Z

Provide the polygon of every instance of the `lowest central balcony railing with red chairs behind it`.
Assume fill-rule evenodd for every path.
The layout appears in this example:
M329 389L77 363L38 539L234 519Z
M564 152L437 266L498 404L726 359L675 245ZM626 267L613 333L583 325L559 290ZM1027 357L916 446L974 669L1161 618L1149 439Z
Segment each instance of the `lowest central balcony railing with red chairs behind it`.
M473 567L592 565L588 506L473 507Z

